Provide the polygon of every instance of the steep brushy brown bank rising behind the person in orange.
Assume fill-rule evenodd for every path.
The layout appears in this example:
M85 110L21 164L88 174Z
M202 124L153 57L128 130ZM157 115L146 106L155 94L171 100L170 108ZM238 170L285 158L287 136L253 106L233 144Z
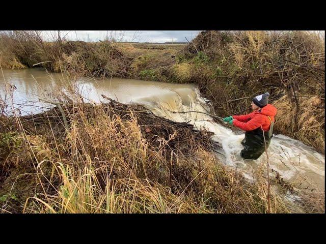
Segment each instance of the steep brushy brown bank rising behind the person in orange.
M324 153L324 41L316 34L202 32L178 59L171 79L198 83L218 115L244 113L252 97L269 92L275 133Z

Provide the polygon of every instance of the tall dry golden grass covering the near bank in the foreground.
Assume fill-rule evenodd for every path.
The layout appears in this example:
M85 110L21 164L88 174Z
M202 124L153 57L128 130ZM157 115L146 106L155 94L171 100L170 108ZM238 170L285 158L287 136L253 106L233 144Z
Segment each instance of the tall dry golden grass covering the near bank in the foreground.
M266 212L264 166L248 182L214 157L205 132L140 107L61 106L1 117L3 212ZM298 211L271 188L270 212Z

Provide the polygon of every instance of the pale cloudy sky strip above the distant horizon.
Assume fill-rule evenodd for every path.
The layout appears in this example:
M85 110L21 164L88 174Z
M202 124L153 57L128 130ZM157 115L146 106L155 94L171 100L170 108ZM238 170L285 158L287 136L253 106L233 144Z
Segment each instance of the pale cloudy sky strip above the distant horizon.
M199 31L61 31L61 36L69 40L97 42L108 38L126 42L186 42L194 39ZM57 35L53 31L44 31L45 37Z

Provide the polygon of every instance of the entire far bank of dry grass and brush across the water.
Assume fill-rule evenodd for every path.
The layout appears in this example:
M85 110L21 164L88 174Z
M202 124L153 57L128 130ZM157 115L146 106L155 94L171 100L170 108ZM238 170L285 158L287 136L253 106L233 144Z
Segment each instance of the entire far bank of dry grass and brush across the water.
M38 32L17 31L0 35L0 51L3 68L49 60L41 66L78 75L195 82L219 116L244 113L251 100L242 98L269 92L279 109L275 132L324 151L324 112L304 111L310 98L321 100L318 111L324 103L324 41L314 33L208 31L184 46L48 43Z

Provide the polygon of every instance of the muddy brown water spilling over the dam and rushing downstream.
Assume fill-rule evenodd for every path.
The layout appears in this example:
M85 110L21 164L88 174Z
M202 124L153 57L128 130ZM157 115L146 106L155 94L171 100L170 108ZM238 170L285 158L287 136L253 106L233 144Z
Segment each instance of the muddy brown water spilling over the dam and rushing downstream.
M40 102L48 100L56 89L66 89L67 80L62 74L48 74L40 69L4 70L0 74L0 95L5 99L5 83L17 87L13 96L7 96L7 104L19 108L21 115L38 113L53 105ZM7 85L8 87L8 85ZM239 156L243 146L243 133L234 133L229 128L212 121L212 117L202 113L176 113L185 111L208 112L206 101L193 84L171 84L133 79L83 79L75 88L86 101L103 101L101 94L122 103L143 104L153 113L175 121L187 121L198 129L214 132L212 138L220 142L223 149L216 154L225 164L235 167L248 178L252 178L253 167L266 162L265 154L258 160L243 160ZM53 97L53 96L52 96ZM106 101L105 101L106 102ZM10 113L10 107L8 112ZM17 113L17 111L16 111ZM284 135L276 135L268 148L270 167L289 181L299 180L303 186L324 190L324 155L317 153L300 141Z

